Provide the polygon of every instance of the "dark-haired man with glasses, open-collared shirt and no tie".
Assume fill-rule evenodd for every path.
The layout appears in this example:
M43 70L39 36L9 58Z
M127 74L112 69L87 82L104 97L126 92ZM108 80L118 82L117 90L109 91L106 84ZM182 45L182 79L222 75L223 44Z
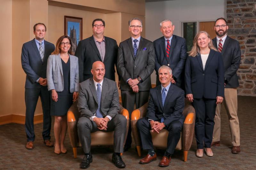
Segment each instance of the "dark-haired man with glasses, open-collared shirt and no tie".
M115 64L118 46L115 39L104 36L105 21L100 18L92 21L92 37L79 41L75 56L78 57L79 81L92 77L92 63L101 61L105 64L105 77L115 80Z

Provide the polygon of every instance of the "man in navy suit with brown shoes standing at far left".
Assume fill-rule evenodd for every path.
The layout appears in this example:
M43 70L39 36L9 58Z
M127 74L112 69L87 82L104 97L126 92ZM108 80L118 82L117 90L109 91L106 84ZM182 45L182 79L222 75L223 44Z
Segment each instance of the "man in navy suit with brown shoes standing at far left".
M43 23L34 25L35 39L23 44L21 52L21 65L27 74L25 83L26 120L25 129L27 134L27 149L34 148L34 114L38 97L41 98L44 123L43 139L44 144L52 147L50 116L50 92L47 89L46 67L49 55L55 47L52 43L44 40L46 27Z

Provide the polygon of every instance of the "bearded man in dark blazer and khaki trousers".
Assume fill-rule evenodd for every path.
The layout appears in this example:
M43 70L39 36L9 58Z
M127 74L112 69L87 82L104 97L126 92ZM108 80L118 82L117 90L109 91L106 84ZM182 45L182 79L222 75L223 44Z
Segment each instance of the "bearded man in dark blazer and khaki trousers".
M239 42L227 36L228 23L225 18L218 18L215 21L214 30L216 38L212 39L213 45L221 52L225 67L225 92L223 104L227 110L229 127L231 132L232 153L240 152L240 130L237 117L237 90L239 86L236 71L241 60L241 50ZM214 117L214 130L212 146L220 145L220 110L221 105L216 107Z

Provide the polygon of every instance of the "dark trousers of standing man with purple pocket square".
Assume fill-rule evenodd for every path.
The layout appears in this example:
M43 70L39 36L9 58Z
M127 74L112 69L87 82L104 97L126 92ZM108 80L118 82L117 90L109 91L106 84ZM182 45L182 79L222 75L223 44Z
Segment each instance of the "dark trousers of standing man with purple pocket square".
M134 109L134 104L136 105L136 109L138 109L141 106L143 106L145 103L147 103L149 98L149 91L139 91L138 93L134 93L133 91L121 90L121 97L122 97L122 106L128 110L129 117L131 118L132 111ZM132 133L132 128L131 128L131 121L130 121L127 139L125 142L126 146L131 146L132 144L131 133Z

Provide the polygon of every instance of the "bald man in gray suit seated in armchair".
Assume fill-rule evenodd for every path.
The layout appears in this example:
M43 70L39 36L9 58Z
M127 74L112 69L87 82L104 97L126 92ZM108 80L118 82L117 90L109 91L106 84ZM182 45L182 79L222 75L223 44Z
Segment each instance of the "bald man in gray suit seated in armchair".
M77 123L78 136L85 156L80 168L88 168L92 162L91 133L95 131L115 131L112 161L116 167L124 168L120 156L123 152L126 134L126 118L118 114L119 95L116 82L103 78L105 66L101 61L92 64L92 78L80 83L77 107L81 117Z

